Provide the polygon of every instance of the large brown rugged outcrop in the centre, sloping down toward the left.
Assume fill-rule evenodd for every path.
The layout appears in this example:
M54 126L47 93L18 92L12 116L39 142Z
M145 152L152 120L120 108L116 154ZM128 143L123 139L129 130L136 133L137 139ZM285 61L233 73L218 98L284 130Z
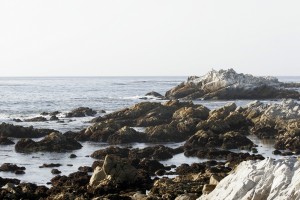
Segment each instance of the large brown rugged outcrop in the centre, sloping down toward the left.
M133 142L179 142L195 133L196 125L209 115L209 109L192 102L142 102L130 108L96 118L94 125L82 130L79 141L111 144ZM130 127L148 127L138 133Z

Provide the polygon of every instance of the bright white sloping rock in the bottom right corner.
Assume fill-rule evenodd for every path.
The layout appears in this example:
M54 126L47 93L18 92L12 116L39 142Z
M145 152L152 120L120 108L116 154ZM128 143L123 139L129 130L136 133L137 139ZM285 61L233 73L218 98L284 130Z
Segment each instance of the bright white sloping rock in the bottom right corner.
M296 158L242 162L199 200L300 199L299 166Z

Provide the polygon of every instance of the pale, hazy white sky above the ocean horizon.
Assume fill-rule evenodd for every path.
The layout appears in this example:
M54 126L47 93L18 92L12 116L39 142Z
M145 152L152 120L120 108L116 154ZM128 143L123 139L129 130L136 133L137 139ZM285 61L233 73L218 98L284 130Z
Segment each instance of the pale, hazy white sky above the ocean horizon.
M300 76L299 0L1 0L0 76Z

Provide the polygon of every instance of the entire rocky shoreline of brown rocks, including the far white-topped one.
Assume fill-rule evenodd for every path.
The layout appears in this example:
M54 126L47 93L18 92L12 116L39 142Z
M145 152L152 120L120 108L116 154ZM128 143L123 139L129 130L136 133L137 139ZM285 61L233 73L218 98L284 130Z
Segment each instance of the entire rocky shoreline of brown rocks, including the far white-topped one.
M0 145L14 145L19 154L64 152L70 159L76 159L74 151L81 149L83 142L106 144L107 147L88 155L94 159L92 165L81 166L68 175L61 175L60 163L39 166L51 169L54 176L47 186L0 177L0 199L218 199L224 185L230 184L228 179L239 181L238 175L232 177L232 174L238 174L240 168L249 168L249 163L260 166L272 162L257 154L257 145L248 136L274 139L276 150L273 153L276 155L300 154L300 104L292 99L272 104L255 100L243 107L229 103L209 109L186 100L243 99L253 95L253 91L256 94L249 99L299 99L297 91L285 87L297 87L297 84L285 85L274 78L237 74L233 70L212 71L203 77L190 77L168 91L165 97L155 92L146 95L164 101L143 101L112 113L101 111L100 116L95 116L97 112L87 107L64 114L64 119L70 120L95 116L91 125L79 131L60 133L53 129L2 123ZM61 113L41 113L39 117L24 121L59 122L62 119L58 114ZM21 123L23 120L14 121ZM166 145L179 142L181 145L174 148ZM132 147L135 143L155 145ZM162 164L180 154L208 161ZM3 173L22 176L27 170L15 163L0 164ZM242 178L245 179L242 182L248 181Z

